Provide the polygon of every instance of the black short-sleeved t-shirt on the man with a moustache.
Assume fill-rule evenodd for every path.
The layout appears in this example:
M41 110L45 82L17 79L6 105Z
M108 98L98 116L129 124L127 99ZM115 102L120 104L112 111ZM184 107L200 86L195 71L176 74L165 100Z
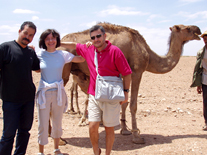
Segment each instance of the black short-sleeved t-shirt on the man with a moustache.
M22 48L16 41L0 45L1 87L3 101L27 102L35 97L32 70L39 70L39 59L29 47Z

